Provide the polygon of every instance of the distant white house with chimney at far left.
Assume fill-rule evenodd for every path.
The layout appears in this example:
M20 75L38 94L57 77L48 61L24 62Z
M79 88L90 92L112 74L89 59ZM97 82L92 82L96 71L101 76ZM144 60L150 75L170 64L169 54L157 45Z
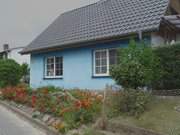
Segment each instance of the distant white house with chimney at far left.
M0 58L13 59L19 64L30 64L30 55L21 55L20 52L24 47L9 47L8 44L4 44L0 50Z

